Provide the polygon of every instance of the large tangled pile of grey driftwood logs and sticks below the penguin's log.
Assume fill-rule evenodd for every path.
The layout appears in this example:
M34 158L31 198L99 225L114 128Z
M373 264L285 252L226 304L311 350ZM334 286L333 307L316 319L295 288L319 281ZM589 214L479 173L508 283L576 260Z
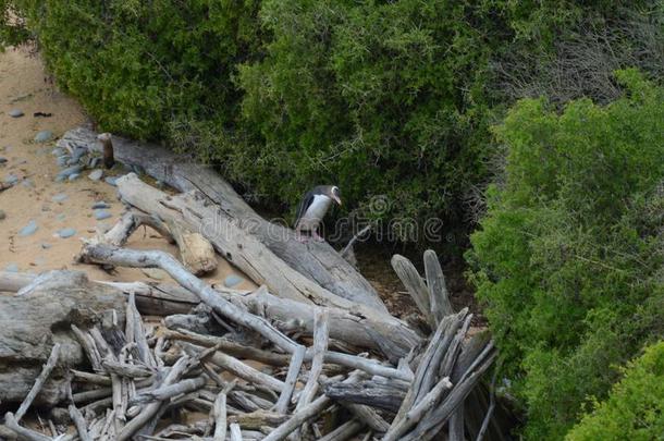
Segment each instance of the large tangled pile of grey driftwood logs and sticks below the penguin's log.
M198 191L167 195L134 174L121 177L118 189L127 212L86 242L77 260L107 270L160 268L177 284L95 282L67 271L0 273L0 291L17 292L9 297L16 303L45 302L45 292L87 297L65 315L42 317L48 332L39 344L22 342L40 348L29 358L26 378L34 383L24 387L29 390L17 411L4 414L0 437L429 440L443 432L465 440L495 430L493 400L487 405L485 395L471 397L496 351L485 332L468 336L472 316L453 310L433 252L425 255L426 282L407 259L392 261L431 328L425 338L389 315L373 290L360 290L366 281L354 268L335 272L330 262L339 256L329 250L324 265L293 265L293 256L276 252L290 244L265 240L262 228L243 226L233 209ZM210 219L214 229L206 224ZM140 225L177 242L182 262L163 252L124 248ZM199 234L204 244L194 248L200 252L183 245L189 234ZM210 249L260 287L241 292L198 279L192 262L209 262ZM352 284L343 282L348 274ZM4 359L0 351L0 379L11 357L27 363L9 353ZM35 360L46 360L38 376ZM0 399L21 402L1 391ZM51 424L44 434L22 424L33 404L69 414L75 431L59 434Z

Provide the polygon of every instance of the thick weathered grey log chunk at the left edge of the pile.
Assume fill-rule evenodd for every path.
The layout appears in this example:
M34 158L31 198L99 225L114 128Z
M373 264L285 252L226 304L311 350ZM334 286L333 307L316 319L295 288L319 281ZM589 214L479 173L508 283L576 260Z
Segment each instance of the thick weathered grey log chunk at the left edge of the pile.
M0 401L23 401L56 343L61 345L59 363L35 404L53 405L64 399L62 368L84 363L70 326L87 327L98 319L98 313L109 309L124 320L124 303L120 291L72 271L44 273L22 295L0 296Z

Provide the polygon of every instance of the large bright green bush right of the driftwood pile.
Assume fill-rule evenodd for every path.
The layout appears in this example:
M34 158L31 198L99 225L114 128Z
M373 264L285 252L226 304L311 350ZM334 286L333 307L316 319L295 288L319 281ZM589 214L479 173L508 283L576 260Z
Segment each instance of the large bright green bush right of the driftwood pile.
M611 105L524 100L496 130L505 182L468 259L529 439L561 439L664 334L664 90L618 77Z

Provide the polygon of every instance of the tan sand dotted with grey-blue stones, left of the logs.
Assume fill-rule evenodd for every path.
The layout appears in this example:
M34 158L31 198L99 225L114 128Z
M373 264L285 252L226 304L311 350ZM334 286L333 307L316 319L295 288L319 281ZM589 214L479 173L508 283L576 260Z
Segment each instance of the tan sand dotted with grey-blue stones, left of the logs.
M24 115L12 118L9 112L13 109L22 110ZM38 118L34 117L35 112L52 115ZM0 53L0 157L8 160L0 164L0 181L10 174L21 180L13 187L0 192L0 210L5 213L5 219L0 220L0 271L8 267L33 273L71 269L83 270L94 280L155 280L138 269L120 268L109 274L96 266L73 261L81 249L81 238L94 236L97 226L112 225L124 211L115 187L88 179L90 170L83 171L76 181L54 182L61 171L51 154L57 137L86 122L88 118L76 100L59 91L51 83L38 54L26 48L10 48ZM35 135L45 130L53 133L53 140L36 143ZM60 194L65 194L66 199L53 201L53 196ZM107 210L111 218L95 219L91 206L99 200L111 205ZM37 224L37 231L27 236L19 235L30 221ZM76 234L69 238L56 236L64 228L76 230ZM139 229L126 246L161 249L177 257L177 248L150 229ZM245 280L235 287L255 286L221 257L218 269L205 279L219 283L231 273ZM163 281L170 279L157 274L158 278L161 275L164 275Z

